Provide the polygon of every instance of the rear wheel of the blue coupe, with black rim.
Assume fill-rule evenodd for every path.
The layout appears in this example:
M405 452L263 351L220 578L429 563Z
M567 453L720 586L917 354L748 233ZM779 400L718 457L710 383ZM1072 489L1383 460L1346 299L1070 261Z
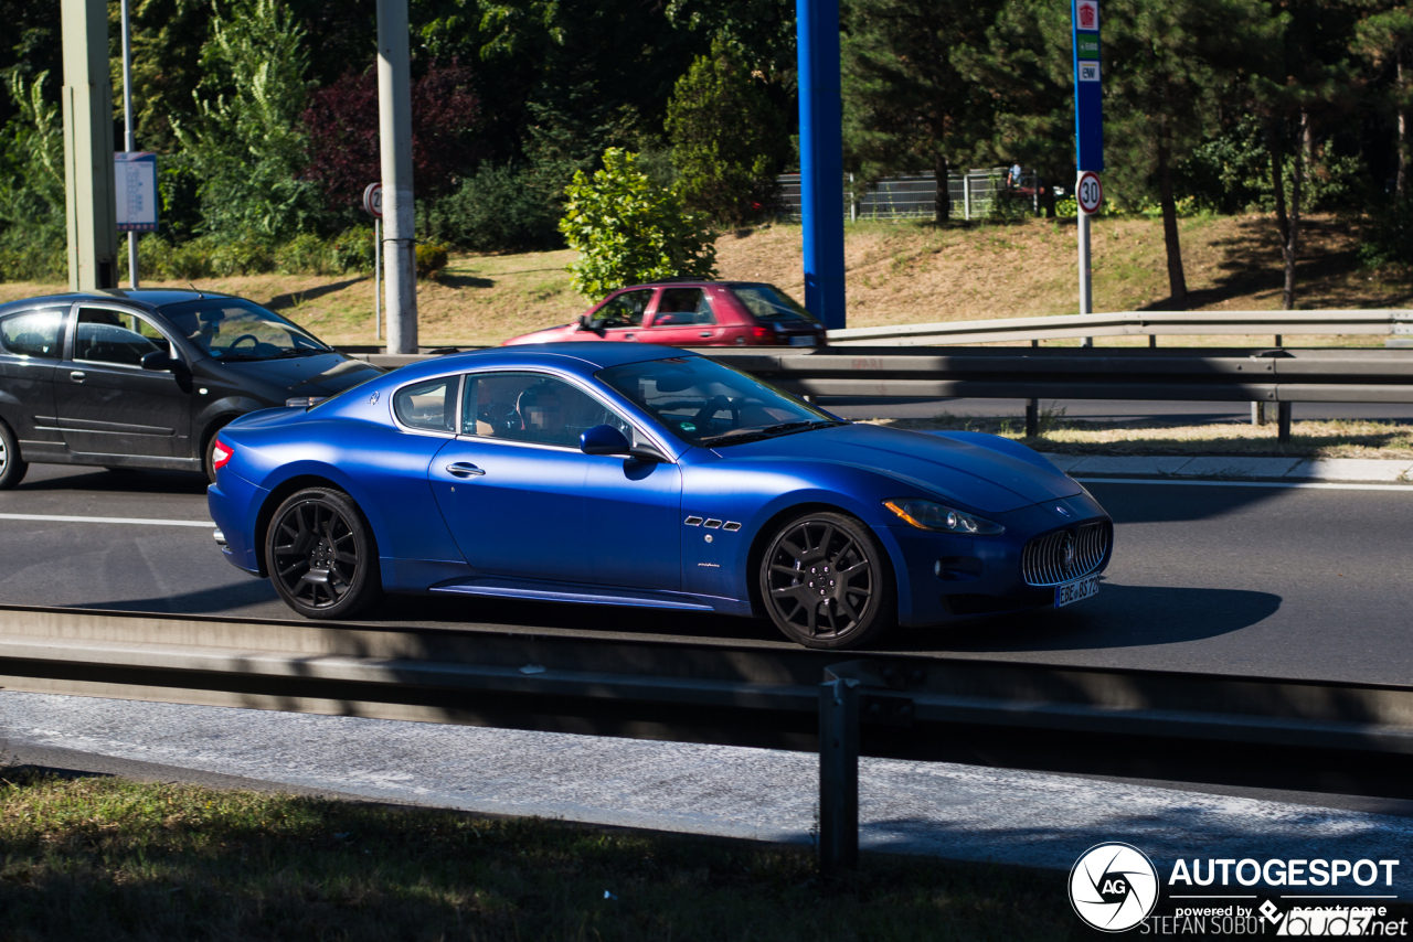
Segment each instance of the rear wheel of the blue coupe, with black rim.
M341 490L308 487L280 504L266 565L274 590L307 619L349 619L383 597L373 532Z

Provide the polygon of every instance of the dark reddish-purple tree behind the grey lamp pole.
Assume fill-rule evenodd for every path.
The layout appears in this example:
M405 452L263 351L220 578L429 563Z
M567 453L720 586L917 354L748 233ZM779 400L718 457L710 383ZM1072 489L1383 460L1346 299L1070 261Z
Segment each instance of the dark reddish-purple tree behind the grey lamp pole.
M471 69L432 65L413 82L413 172L418 196L447 192L475 167L472 131L480 102L471 90ZM301 119L309 134L307 174L324 186L336 208L355 206L363 188L382 179L377 73L346 73L309 96Z

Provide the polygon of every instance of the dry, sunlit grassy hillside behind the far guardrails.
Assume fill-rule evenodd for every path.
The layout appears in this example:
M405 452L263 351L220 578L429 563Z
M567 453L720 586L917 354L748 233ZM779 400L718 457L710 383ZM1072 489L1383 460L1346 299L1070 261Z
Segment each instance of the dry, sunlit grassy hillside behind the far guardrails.
M1362 267L1354 226L1332 216L1306 220L1299 306L1402 308L1413 302L1413 271ZM1188 306L1280 306L1280 249L1269 217L1184 219L1181 237ZM1074 220L948 227L853 223L845 239L849 326L1077 312ZM716 244L722 278L770 281L803 298L798 226L729 232ZM1092 253L1095 309L1166 306L1159 220L1101 217L1094 225ZM572 257L571 251L454 256L437 281L418 287L421 342L499 343L571 321L589 304L569 288L564 266ZM201 287L268 304L332 343L373 343L372 277L270 274L212 278ZM0 301L49 290L0 284Z

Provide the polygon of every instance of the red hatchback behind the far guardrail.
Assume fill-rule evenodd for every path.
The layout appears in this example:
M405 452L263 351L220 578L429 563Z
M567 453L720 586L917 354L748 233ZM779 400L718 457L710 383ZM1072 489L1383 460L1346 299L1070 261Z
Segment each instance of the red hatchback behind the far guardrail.
M633 340L671 346L824 346L824 325L780 288L759 281L670 281L620 288L578 323L502 346Z

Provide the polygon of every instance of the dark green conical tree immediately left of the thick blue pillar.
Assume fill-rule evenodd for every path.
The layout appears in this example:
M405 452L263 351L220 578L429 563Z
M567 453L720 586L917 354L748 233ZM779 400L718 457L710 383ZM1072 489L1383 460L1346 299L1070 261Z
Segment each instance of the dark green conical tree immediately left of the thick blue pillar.
M781 120L759 86L716 42L677 81L667 103L678 196L729 226L774 202L784 162Z

